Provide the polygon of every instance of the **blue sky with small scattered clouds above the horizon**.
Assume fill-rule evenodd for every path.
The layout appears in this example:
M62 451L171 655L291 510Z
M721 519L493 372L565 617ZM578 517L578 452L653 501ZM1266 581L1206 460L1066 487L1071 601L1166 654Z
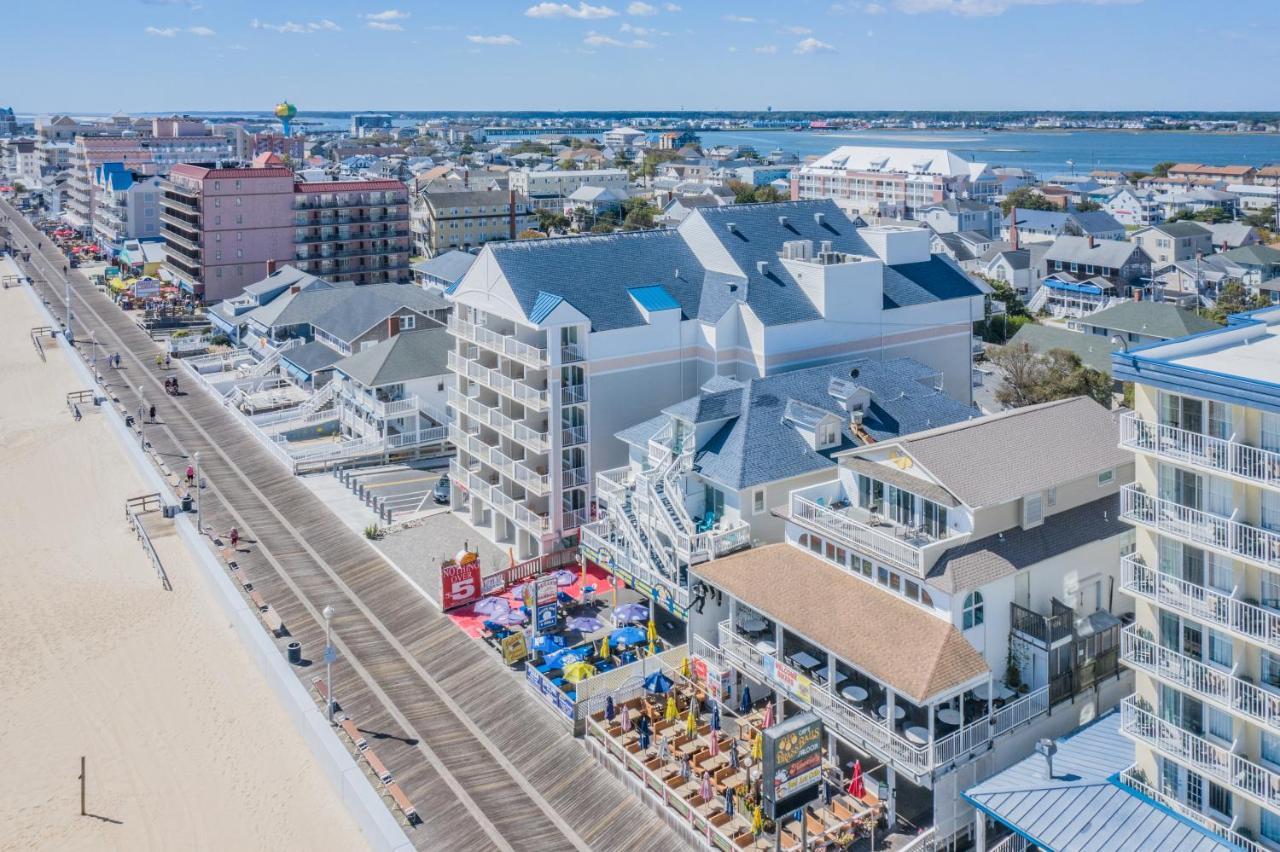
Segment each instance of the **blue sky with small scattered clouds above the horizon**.
M1277 110L1274 0L82 0L8 10L19 113ZM1224 14L1226 9L1231 14ZM1263 22L1270 22L1262 26Z

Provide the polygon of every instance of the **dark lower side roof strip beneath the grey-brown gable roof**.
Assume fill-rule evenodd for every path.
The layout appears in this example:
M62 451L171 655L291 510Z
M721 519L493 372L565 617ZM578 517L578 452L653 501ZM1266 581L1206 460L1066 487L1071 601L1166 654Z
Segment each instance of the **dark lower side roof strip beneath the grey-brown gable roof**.
M929 585L948 594L970 591L1128 528L1120 521L1120 495L1111 494L1046 516L1044 523L1030 530L1012 527L951 548L929 569Z

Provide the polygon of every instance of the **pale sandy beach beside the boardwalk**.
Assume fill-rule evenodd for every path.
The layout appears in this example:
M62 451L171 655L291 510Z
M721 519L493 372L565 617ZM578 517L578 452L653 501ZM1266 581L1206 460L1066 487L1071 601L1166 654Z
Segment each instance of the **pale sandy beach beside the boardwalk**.
M0 849L366 848L174 533L160 587L123 517L148 489L38 317L0 290ZM115 821L79 815L81 755Z

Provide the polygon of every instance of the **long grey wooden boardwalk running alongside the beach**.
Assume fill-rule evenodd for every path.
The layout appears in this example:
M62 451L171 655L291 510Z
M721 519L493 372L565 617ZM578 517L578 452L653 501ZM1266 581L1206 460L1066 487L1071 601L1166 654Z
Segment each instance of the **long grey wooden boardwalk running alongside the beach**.
M0 212L18 220L4 202ZM37 238L24 221L12 230L18 243ZM27 271L61 316L63 260L47 239L45 252L33 249ZM140 397L156 406L159 423L147 425L146 436L170 469L184 471L189 453L200 452L205 527L212 535L239 530L234 558L287 626L282 649L300 641L314 661L297 669L312 695L310 679L324 672L320 610L337 610L335 698L416 806L421 824L406 832L417 848L687 848L527 695L520 677L419 596L220 403L180 371L186 393L168 397L155 343L82 275L72 279L77 339L83 344L93 333L104 374L113 374L106 356L120 353L123 368L108 375L109 385L131 409ZM320 704L316 697L317 711ZM381 789L371 774L370 783Z

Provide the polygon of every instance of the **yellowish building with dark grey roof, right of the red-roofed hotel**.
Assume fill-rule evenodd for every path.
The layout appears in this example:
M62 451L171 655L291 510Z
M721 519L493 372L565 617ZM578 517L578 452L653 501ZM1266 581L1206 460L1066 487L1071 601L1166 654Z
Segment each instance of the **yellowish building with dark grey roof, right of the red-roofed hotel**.
M413 246L425 257L515 239L535 223L532 203L515 191L422 191L413 198Z

